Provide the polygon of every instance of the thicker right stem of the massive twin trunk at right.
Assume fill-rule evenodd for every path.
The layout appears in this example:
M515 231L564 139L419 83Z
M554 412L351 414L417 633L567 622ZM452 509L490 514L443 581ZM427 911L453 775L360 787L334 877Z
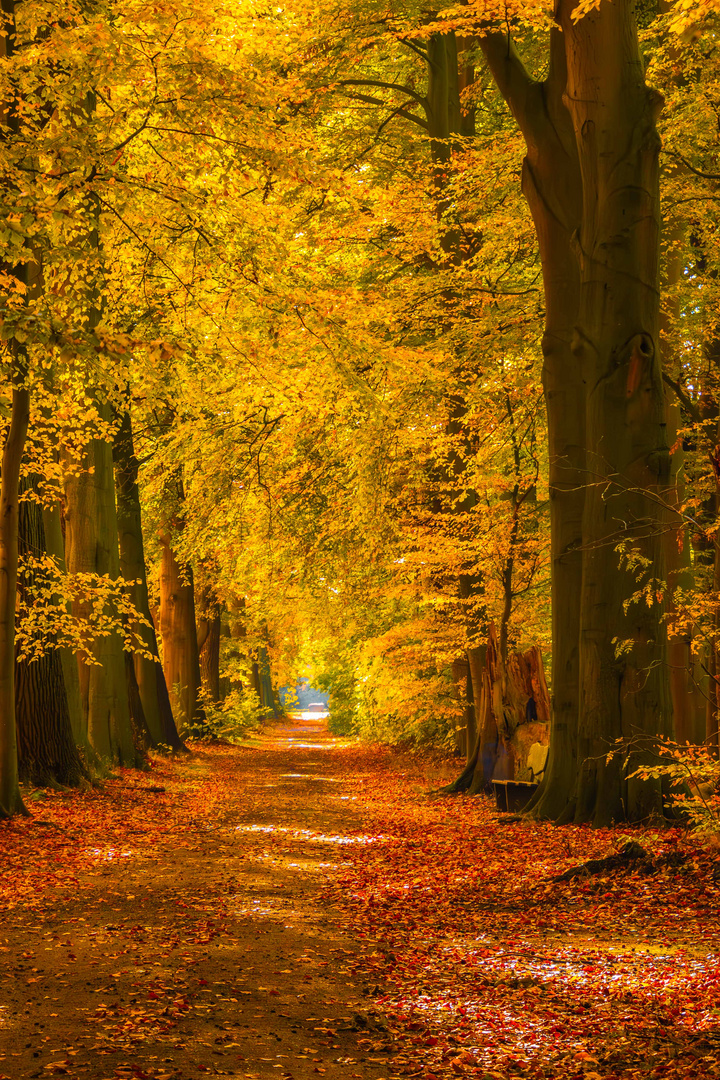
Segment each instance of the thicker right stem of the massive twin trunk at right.
M669 455L660 364L658 97L643 78L631 0L578 23L559 17L567 105L583 175L578 239L581 305L573 339L587 379L588 487L583 517L581 708L576 821L607 825L662 812L658 784L627 781L616 739L671 731L660 603L631 603L636 573L617 544L647 561L642 583L664 582L662 523L652 494L667 489ZM628 643L617 656L616 644Z

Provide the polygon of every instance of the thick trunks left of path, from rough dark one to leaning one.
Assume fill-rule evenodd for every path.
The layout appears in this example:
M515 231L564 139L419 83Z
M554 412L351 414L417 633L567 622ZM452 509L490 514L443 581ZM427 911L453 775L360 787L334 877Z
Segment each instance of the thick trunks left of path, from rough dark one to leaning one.
M101 405L99 411L108 418L108 406ZM94 440L86 449L84 471L69 476L65 536L59 504L41 509L29 500L18 508L19 542L33 555L46 551L62 571L118 580L122 570L132 582L138 612L149 623L138 621L132 629L157 656L128 416L116 443L117 475L112 448ZM19 588L30 584L26 570ZM73 615L82 619L87 615L85 607L90 605L76 604ZM126 651L119 632L98 636L91 657L49 648L39 660L19 660L14 676L18 771L25 781L77 784L87 775L85 762L139 764L147 746L163 743L182 748L159 660Z

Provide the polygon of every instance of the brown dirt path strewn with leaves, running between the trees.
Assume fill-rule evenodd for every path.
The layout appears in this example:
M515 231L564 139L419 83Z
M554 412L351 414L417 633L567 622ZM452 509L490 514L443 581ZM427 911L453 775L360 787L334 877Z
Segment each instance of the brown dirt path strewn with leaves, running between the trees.
M201 792L219 777L222 798L186 836L173 808L177 847L135 851L128 806L130 832L69 891L60 856L59 894L21 896L0 927L0 1076L382 1076L384 1023L348 972L357 943L320 900L356 832L336 745L315 723L201 751L181 771ZM155 781L136 794L171 797ZM31 838L68 831L46 812L15 823L30 861Z

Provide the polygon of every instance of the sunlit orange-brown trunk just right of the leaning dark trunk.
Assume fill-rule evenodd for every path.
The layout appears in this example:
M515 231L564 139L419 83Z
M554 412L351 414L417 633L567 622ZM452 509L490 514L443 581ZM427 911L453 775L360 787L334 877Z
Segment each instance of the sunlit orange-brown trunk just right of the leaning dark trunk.
M195 591L191 567L181 567L175 557L168 532L160 536L160 634L163 642L163 672L180 733L202 721Z

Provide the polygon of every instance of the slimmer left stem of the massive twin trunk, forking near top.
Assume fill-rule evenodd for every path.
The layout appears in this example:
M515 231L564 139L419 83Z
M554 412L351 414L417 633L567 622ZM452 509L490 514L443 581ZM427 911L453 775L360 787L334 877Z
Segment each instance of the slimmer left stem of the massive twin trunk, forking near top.
M580 308L573 237L582 215L582 178L563 103L565 38L551 32L549 68L533 82L505 35L483 39L486 59L526 143L522 191L535 225L545 291L543 387L547 408L553 618L553 727L546 781L534 812L568 812L578 762L580 599L585 473L585 381L572 353Z

